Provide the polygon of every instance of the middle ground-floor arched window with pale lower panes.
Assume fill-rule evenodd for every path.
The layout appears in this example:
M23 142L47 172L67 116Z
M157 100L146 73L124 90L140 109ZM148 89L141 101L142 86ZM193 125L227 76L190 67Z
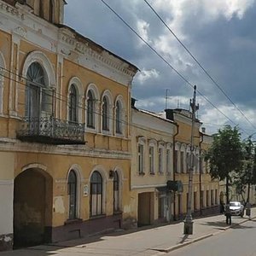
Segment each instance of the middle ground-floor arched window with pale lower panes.
M103 213L102 196L102 175L100 172L93 172L90 177L90 216Z

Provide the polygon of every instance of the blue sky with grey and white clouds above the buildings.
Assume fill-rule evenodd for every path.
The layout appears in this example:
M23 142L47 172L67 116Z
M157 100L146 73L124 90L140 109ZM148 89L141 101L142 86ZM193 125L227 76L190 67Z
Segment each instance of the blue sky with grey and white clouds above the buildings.
M189 109L196 84L207 133L224 125L237 125L242 137L256 132L256 0L67 0L64 17L139 68L137 108Z

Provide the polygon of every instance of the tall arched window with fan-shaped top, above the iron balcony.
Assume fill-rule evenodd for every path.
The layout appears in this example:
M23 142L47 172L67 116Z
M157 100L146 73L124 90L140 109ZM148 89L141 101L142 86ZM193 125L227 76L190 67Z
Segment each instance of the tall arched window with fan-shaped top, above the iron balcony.
M26 73L26 117L39 117L41 111L51 113L51 93L47 90L43 67L33 62Z

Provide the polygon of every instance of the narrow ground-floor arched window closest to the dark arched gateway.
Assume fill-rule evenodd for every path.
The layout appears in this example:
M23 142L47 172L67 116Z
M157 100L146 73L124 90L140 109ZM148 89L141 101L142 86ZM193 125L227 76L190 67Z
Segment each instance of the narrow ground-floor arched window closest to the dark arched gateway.
M72 170L68 175L69 214L68 218L77 218L77 175Z

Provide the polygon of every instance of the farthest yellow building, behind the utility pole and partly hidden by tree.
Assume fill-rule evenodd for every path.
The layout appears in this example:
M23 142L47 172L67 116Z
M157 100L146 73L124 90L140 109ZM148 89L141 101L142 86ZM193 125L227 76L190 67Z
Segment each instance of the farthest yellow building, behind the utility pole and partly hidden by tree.
M175 193L175 217L183 219L187 212L189 164L192 154L194 155L192 214L199 216L219 212L218 182L212 181L207 165L203 160L203 151L207 150L210 145L211 137L200 132L201 121L195 119L194 147L191 148L192 113L181 108L166 109L166 119L171 119L178 125L177 135L174 137L174 172L175 180L182 184L182 189Z

